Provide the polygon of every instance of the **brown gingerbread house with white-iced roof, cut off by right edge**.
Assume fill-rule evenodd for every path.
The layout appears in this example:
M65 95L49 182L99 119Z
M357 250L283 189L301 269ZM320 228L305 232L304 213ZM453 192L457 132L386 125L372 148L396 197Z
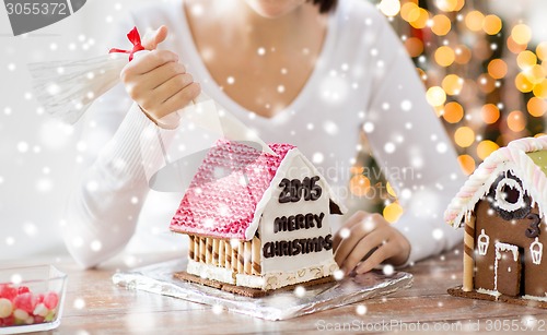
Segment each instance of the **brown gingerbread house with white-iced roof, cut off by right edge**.
M462 287L452 295L547 307L547 136L493 152L445 220L465 228Z

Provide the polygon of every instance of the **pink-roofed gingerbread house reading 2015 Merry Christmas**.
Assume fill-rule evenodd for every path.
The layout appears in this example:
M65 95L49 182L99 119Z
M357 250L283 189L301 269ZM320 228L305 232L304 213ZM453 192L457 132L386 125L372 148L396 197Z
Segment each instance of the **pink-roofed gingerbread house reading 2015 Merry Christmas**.
M188 274L270 290L338 268L329 214L345 210L298 148L269 147L220 141L206 155L171 223L189 237Z

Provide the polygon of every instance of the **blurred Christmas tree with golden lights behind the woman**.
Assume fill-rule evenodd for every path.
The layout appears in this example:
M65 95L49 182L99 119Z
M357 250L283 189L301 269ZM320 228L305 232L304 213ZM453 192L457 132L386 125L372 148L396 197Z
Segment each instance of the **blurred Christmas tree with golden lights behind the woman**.
M389 19L415 61L465 174L508 142L543 134L547 43L534 45L522 17L500 17L485 0L371 2ZM352 193L366 199L383 194L366 210L395 222L401 207L392 188L383 178L362 174L376 167L370 155L358 161Z

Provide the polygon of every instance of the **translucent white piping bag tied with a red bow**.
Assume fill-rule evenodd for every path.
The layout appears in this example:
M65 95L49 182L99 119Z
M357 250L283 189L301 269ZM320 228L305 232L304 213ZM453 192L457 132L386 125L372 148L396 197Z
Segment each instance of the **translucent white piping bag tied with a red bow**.
M28 64L33 91L46 112L63 122L75 123L101 95L119 83L119 74L133 57L149 52L141 45L137 27L128 34L133 45L130 50L110 49L109 55L75 61L51 61ZM245 144L256 158L263 153L277 156L258 135L232 116L217 101L201 93L191 104L159 120L159 124L178 124L164 129L151 124L140 137L143 168L152 190L185 191L207 153L219 141ZM236 155L236 154L235 154ZM246 153L248 160L248 153ZM241 161L230 153L233 164L224 164L224 171L216 178L241 169ZM146 158L144 158L146 157ZM228 169L226 169L228 166Z

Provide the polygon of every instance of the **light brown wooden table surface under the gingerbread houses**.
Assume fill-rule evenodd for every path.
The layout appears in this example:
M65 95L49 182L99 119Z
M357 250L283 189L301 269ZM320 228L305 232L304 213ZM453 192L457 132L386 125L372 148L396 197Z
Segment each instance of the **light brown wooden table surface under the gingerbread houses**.
M453 298L446 288L462 282L462 248L420 262L407 270L414 285L391 296L289 321L265 321L175 298L128 290L112 283L116 267L81 271L69 258L2 262L43 264L69 274L61 325L51 334L230 334L317 333L339 330L360 333L398 332L453 334L467 331L507 334L547 334L547 310ZM173 255L171 255L173 256ZM168 260L168 259L164 259ZM120 268L126 270L126 268ZM364 311L364 313L363 313ZM529 322L534 321L535 322ZM528 322L527 322L528 321ZM535 331L523 331L526 325Z

